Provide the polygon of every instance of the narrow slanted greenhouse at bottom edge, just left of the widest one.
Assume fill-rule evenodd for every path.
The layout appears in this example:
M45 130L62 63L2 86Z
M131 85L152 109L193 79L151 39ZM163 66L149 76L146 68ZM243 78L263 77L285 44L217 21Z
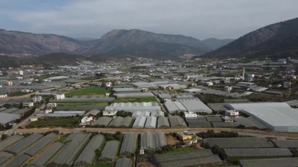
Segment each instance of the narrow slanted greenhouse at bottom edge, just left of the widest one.
M53 143L51 146L49 146L47 149L45 149L42 153L40 153L38 155L37 158L35 158L30 165L34 165L37 167L42 167L44 164L46 164L46 162L48 162L50 160L51 157L53 157L53 155L58 152L58 150L64 146L62 143L60 142L55 142Z

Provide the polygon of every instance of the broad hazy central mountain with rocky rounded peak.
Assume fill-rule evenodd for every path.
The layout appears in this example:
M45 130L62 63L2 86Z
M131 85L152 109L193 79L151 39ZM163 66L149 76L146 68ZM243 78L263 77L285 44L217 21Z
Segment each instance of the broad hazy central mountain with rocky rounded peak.
M139 29L112 30L77 50L78 54L147 55L150 57L203 54L211 49L193 37L156 34Z

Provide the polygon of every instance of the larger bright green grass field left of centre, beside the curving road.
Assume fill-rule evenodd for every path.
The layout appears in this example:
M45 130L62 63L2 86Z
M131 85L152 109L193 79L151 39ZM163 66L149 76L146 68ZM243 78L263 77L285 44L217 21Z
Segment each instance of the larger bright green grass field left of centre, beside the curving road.
M81 95L105 95L105 93L109 93L110 90L105 89L104 87L86 87L77 89L74 91L70 91L65 94L65 96L81 96Z

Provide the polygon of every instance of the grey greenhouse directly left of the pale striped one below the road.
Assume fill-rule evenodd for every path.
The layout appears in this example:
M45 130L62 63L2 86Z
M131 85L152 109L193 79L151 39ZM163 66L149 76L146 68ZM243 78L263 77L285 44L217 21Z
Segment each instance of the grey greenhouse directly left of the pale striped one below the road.
M135 133L125 133L122 146L120 149L120 155L134 155L137 145L137 135Z

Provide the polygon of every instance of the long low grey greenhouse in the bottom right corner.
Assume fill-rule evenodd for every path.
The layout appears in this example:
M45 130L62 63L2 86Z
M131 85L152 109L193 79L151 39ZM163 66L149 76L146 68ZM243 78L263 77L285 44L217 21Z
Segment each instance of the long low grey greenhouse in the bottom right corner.
M240 160L242 167L297 167L298 157Z

